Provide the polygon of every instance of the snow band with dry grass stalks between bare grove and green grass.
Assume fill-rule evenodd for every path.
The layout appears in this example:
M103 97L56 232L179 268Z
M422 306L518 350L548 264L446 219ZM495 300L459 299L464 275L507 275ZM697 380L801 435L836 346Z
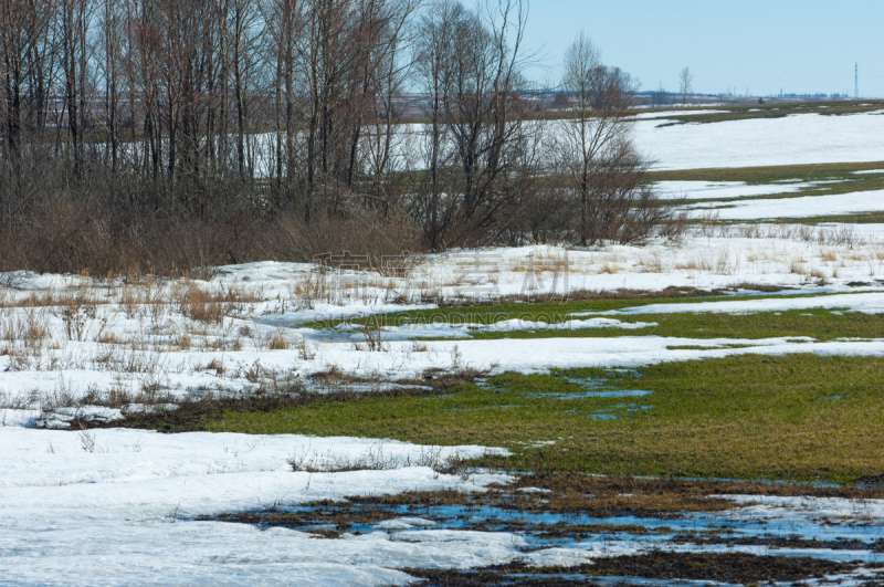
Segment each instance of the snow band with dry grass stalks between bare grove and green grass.
M620 289L738 291L741 284L760 284L803 293L866 292L806 298L800 301L806 304L802 307L866 312L884 307L882 283L876 281L884 279L884 244L869 227L862 235L849 226L779 224L769 234L758 230L732 227L681 243L588 251L525 247L451 252L423 259L407 277L351 270L323 273L311 264L277 262L219 268L210 282L126 284L22 274L2 294L7 307L0 316L0 338L7 342L0 349L0 398L21 402L28 397L76 398L109 390L137 396L145 389L173 397L199 396L242 391L274 378L306 380L329 369L396 380L454 365L535 371L551 366L639 366L734 353L884 353L881 342L781 339L759 340L753 349L671 350L667 347L727 342L706 345L642 336L646 324L555 312L487 325L429 318L423 324L386 326L382 352L365 347L361 316L432 310L441 301L459 298L527 295L543 300L552 293ZM236 301L219 302L225 313L217 321L196 319L192 316L202 306L190 300L200 292ZM765 300L751 308L774 311L783 303ZM798 303L788 301L787 305ZM715 311L734 312L737 306L722 304ZM339 318L350 322L316 324ZM537 328L607 328L615 338L467 339L475 332ZM448 340L420 346L411 342L421 337Z

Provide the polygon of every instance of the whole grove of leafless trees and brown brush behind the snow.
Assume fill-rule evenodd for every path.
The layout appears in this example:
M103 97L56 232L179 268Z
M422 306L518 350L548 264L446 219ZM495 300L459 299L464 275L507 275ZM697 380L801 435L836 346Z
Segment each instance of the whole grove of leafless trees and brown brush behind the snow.
M646 238L671 212L641 188L629 76L581 36L573 116L535 119L526 19L523 0L0 0L0 270Z

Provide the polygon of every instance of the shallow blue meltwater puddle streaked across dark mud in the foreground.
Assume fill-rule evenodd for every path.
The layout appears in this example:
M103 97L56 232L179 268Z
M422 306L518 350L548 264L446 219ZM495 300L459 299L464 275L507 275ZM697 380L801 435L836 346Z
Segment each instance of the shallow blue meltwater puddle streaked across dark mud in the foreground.
M535 494L535 492L529 492ZM544 492L537 492L543 504ZM625 495L624 495L625 496ZM408 541L414 530L508 532L524 537L529 551L576 548L600 552L613 545L636 551L723 552L729 548L827 560L884 564L884 528L832 522L812 515L769 513L681 512L665 515L588 515L537 512L490 505L420 505L360 503L298 505L214 517L259 526L283 526L302 532L366 534L394 533ZM401 521L397 524L396 521Z

